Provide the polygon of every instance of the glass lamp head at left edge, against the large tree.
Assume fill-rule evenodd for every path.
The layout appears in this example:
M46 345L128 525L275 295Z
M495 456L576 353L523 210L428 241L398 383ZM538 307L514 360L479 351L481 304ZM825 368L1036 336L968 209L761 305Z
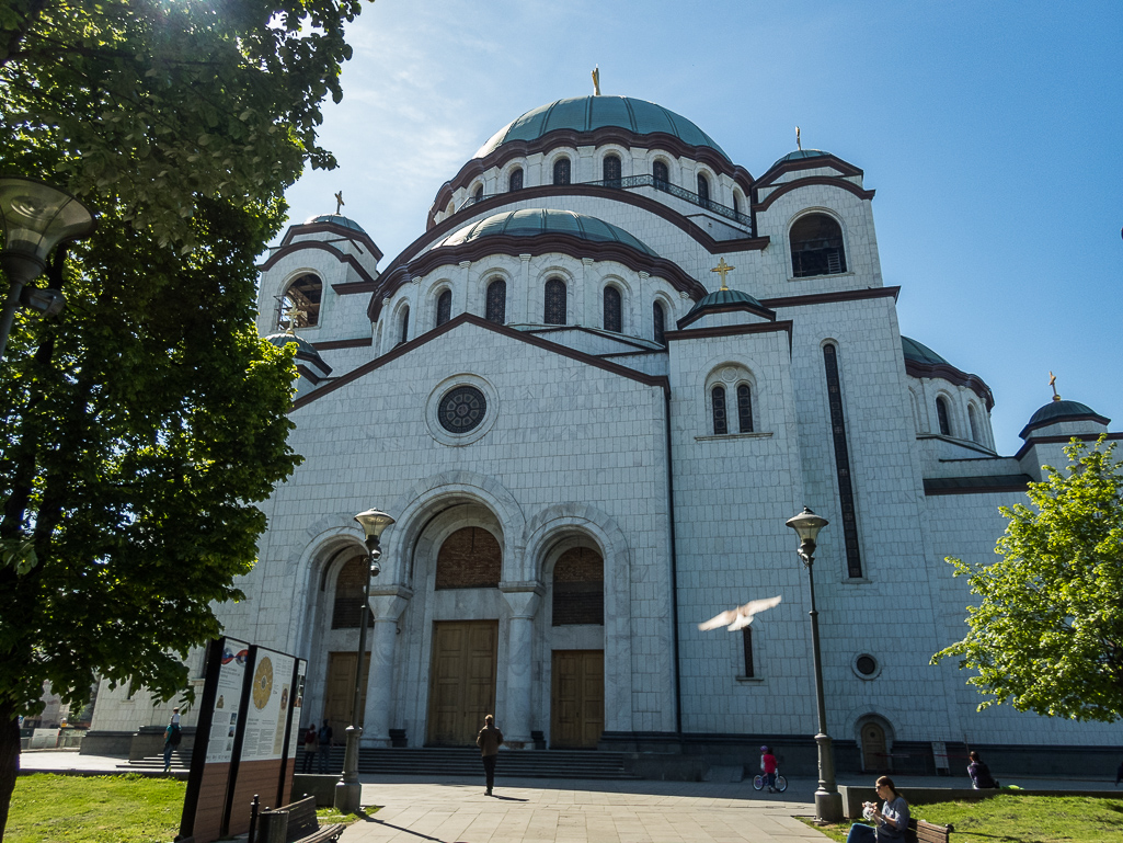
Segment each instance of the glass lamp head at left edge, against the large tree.
M98 224L66 191L12 175L0 178L0 225L4 270L12 280L27 283L43 272L58 243L89 237Z

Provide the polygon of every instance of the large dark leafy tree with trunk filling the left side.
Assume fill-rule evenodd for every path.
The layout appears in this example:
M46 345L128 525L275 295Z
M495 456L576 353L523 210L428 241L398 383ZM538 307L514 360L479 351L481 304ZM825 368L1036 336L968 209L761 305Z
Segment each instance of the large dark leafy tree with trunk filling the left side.
M44 681L161 699L241 597L285 444L292 346L257 337L257 256L317 145L359 0L11 0L2 171L100 215L0 364L0 839Z

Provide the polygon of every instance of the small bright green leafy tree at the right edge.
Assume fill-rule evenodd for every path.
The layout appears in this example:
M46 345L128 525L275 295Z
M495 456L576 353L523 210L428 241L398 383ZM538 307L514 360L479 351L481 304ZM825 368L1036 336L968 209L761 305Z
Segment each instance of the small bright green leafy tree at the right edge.
M967 636L932 662L960 658L968 681L1020 711L1077 720L1123 717L1123 470L1114 444L1074 441L1065 471L1046 465L1030 483L1031 506L1002 507L1008 519L992 564L958 559L978 606Z

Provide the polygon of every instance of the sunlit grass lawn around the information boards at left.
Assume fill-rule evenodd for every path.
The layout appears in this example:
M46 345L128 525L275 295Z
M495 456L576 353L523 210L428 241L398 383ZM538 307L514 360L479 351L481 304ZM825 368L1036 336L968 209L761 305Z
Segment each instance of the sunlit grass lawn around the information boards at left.
M144 776L53 776L16 779L4 843L167 843L180 832L186 782ZM367 808L373 814L376 808ZM354 823L334 808L321 824Z

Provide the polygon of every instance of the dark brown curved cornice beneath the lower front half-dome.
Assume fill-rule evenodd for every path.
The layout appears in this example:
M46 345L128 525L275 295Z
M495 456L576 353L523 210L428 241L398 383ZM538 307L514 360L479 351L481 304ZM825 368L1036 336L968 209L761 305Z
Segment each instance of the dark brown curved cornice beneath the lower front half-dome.
M478 261L494 254L505 254L512 257L529 254L538 256L560 252L577 259L591 257L595 261L615 261L633 272L647 272L666 279L672 287L685 292L695 301L706 294L706 289L695 279L683 272L682 268L665 257L652 257L632 246L622 243L601 243L587 241L572 234L550 232L533 237L513 237L495 234L480 239L462 243L455 246L441 246L424 252L410 263L399 265L384 272L381 285L375 296L371 297L367 316L371 321L378 318L382 311L382 300L393 296L402 284L411 278L427 275L440 266L456 266L460 261Z

